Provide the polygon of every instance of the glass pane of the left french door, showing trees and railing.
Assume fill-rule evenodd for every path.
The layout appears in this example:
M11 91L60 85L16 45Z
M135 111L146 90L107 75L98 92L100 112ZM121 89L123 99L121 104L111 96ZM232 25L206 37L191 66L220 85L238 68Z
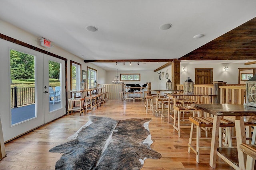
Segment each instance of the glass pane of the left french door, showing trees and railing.
M11 125L36 117L35 56L10 49Z

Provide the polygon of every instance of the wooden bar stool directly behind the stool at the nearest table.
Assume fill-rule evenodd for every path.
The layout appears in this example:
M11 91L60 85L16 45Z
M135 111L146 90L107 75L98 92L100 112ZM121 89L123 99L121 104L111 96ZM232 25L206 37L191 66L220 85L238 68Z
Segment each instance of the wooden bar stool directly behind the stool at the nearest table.
M192 112L193 113L193 117L195 116L195 112L198 112L198 117L201 117L202 115L202 111L200 109L196 109L192 106L173 106L173 115L174 115L174 124L173 126L173 131L177 130L178 131L178 135L180 137L180 114L181 112ZM178 115L178 127L176 126L176 113Z

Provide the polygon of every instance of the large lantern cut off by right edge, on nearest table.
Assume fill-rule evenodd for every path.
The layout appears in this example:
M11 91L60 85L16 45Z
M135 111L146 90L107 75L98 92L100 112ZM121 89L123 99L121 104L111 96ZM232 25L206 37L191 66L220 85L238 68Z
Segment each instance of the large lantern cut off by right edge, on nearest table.
M256 74L246 82L245 105L256 107Z

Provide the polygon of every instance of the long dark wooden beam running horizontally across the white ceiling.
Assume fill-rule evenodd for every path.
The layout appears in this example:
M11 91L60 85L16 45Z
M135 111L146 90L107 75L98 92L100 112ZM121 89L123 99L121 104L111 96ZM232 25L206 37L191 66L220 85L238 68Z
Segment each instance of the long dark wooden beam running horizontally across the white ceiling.
M98 62L98 63L123 63L123 62L170 62L173 59L130 59L130 60L84 60L84 63Z

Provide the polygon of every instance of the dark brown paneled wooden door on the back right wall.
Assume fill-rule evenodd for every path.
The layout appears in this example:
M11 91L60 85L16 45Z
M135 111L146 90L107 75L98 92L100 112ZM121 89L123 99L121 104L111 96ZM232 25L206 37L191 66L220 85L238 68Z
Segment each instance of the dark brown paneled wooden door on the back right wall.
M213 68L195 68L195 84L212 84Z

